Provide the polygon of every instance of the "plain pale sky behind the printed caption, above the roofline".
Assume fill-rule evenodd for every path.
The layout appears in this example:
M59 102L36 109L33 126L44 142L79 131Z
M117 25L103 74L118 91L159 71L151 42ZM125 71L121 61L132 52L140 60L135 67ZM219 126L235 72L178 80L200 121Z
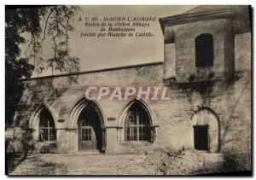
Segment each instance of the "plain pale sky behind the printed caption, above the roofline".
M181 14L193 8L195 6L80 6L81 10L71 21L74 31L69 39L70 55L79 57L81 71L164 61L164 38L158 20L151 22L147 28L137 28L137 32L153 32L154 37L81 38L81 32L99 32L99 27L85 27L84 21L79 21L79 18L155 16L159 19ZM21 47L23 54L27 45L28 43ZM44 40L42 48L44 58L52 55L51 45L49 40ZM34 73L33 77L46 75L51 75L51 71Z

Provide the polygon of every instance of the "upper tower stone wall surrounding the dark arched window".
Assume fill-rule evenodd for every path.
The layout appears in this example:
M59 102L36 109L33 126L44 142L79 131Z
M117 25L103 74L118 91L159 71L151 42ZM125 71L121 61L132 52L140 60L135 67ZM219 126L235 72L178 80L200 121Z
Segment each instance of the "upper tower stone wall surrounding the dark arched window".
M205 80L210 73L213 78L228 78L234 73L234 33L232 32L232 21L226 19L197 21L165 28L165 38L175 34L175 49L167 48L170 44L165 44L165 61L168 63L171 58L175 62L168 63L166 68L171 68L174 73L166 71L166 78L175 77L178 82L188 82L191 75L199 80ZM195 67L195 38L203 33L213 36L213 66ZM169 52L169 54L168 54ZM170 52L174 55L170 55ZM175 56L175 58L173 58ZM174 65L175 68L172 68Z

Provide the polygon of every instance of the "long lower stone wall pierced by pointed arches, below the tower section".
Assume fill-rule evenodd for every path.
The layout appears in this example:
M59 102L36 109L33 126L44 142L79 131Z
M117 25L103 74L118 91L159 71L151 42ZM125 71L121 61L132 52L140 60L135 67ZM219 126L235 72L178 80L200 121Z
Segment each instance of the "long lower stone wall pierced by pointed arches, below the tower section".
M248 36L247 34L243 36ZM242 44L236 43L243 48ZM241 50L244 53L245 48ZM236 55L241 57L241 55ZM237 59L236 61L241 61ZM244 61L250 61L250 57ZM170 101L143 100L152 112L156 125L153 143L129 143L122 136L124 131L120 116L131 101L96 101L102 109L106 126L106 153L137 153L154 148L193 148L193 128L191 119L196 107L210 107L220 120L221 150L244 148L251 142L251 76L250 69L238 69L234 84L225 81L214 82L205 92L193 88L169 87L167 96ZM67 77L36 78L24 81L25 90L20 101L20 111L16 120L27 127L34 120L34 114L44 104L53 114L57 131L57 152L77 152L77 131L70 128L70 113L84 96L84 90L90 85L96 86L163 86L163 65L120 68L113 71L84 73L79 75L79 84L69 85ZM53 93L55 92L55 93ZM108 120L112 118L114 120ZM64 119L64 122L59 121ZM31 127L33 128L33 127ZM34 136L37 141L37 136ZM37 142L40 143L40 142ZM244 144L241 146L241 144Z

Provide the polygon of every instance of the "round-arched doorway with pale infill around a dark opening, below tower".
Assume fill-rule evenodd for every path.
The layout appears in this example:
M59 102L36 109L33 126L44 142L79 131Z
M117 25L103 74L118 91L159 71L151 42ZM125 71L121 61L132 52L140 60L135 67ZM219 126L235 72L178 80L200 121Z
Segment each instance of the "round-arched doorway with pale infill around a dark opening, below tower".
M192 118L194 148L217 153L219 145L218 116L210 108L202 107Z

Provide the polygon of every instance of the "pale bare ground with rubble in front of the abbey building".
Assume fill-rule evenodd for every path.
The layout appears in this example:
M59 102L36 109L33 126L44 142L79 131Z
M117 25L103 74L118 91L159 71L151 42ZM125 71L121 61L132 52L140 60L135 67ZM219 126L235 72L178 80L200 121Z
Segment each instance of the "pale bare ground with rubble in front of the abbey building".
M218 164L221 154L195 150L145 154L30 154L10 175L189 175Z

